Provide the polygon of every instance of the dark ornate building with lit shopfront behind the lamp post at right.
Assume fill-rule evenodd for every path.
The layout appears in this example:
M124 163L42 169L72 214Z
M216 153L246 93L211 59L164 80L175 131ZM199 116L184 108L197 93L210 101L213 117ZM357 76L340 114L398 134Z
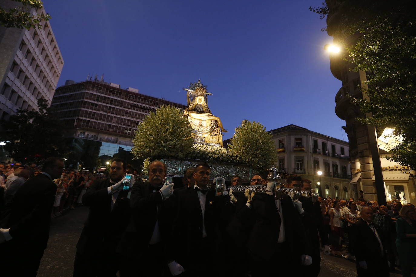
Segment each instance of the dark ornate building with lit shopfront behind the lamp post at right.
M337 9L342 8L338 1L326 1L329 7L327 16L327 32L329 36L334 37L334 44L337 44L338 38L334 36L338 28ZM351 37L353 43L354 37ZM342 55L347 53L342 51L337 55L330 55L330 69L332 75L342 82L342 87L335 95L335 113L339 118L345 120L345 132L347 132L350 148L350 162L352 169L352 184L357 185L357 189L364 191L365 200L379 200L375 185L373 159L370 145L376 145L371 141L369 130L357 122L358 117L363 117L363 113L357 105L353 105L347 96L362 98L363 94L359 84L361 83L359 72L350 70L354 64L349 64L342 59ZM365 74L364 74L365 75ZM363 76L362 76L363 77ZM374 130L374 129L373 129ZM380 136L381 134L378 134ZM372 136L371 136L372 137ZM386 190L386 199L399 199L399 194L404 196L406 201L416 204L415 188L416 182L414 175L416 172L409 167L406 169L398 164L387 160L388 152L379 149L379 158L381 162L381 171Z

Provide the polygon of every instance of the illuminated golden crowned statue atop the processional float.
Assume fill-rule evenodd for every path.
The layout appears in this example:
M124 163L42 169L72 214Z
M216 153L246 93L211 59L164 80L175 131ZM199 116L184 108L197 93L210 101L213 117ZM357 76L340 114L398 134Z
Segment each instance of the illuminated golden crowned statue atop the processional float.
M206 86L203 86L200 80L198 83L191 83L190 88L184 90L188 92L186 95L188 107L183 111L183 115L188 117L193 129L194 143L223 146L221 131L228 131L224 129L220 118L213 115L208 108L207 95L212 93L206 91Z

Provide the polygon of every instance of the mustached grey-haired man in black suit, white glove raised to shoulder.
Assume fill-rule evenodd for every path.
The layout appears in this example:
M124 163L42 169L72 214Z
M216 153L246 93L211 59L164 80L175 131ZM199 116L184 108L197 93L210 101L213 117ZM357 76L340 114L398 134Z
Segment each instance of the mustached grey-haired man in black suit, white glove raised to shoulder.
M168 268L173 275L183 267L170 260L167 244L173 224L173 183L165 183L166 164L153 161L149 164L149 181L137 181L131 189L132 216L118 251L124 259L128 276L163 276ZM168 265L168 267L166 266Z

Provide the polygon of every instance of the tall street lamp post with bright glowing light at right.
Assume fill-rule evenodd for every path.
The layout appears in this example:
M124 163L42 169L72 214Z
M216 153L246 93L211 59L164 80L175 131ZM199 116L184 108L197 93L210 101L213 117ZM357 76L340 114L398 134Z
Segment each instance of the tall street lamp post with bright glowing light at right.
M330 53L338 53L340 48L332 45L332 44L325 44L324 50L329 51ZM362 94L363 99L370 102L370 97L366 93L368 91L368 84L367 84L367 75L366 72L362 69L359 70L359 78L361 82L361 87L363 88ZM373 113L365 113L366 118L372 118ZM377 193L377 200L380 205L386 205L386 192L384 189L384 179L383 174L381 172L381 161L380 161L380 153L379 153L379 145L377 142L377 132L376 127L372 125L367 125L367 134L369 137L369 150L371 152L371 160L373 163L373 171L374 171L374 183L376 186L376 193ZM322 174L322 172L321 172Z

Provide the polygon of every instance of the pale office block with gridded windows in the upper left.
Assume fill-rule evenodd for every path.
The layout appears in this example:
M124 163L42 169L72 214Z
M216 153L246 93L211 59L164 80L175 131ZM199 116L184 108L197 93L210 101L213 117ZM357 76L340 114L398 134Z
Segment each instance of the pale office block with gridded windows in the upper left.
M6 10L16 5L2 1ZM43 9L32 13L46 14ZM64 66L50 23L30 30L0 27L0 49L0 120L19 108L37 110L39 98L50 104Z

